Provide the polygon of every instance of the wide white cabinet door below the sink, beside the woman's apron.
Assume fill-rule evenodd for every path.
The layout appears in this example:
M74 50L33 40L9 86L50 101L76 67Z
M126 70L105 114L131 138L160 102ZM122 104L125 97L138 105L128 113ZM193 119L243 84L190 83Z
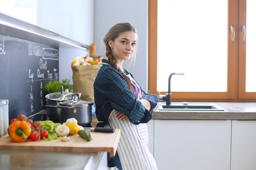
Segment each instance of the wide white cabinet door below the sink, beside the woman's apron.
M159 170L229 170L231 121L155 120Z

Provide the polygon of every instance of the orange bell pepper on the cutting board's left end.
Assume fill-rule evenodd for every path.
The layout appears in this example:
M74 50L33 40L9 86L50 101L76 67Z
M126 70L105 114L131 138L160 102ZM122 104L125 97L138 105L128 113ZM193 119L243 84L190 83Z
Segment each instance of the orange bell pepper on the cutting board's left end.
M16 121L9 126L9 136L14 142L24 142L31 134L30 125L25 121Z

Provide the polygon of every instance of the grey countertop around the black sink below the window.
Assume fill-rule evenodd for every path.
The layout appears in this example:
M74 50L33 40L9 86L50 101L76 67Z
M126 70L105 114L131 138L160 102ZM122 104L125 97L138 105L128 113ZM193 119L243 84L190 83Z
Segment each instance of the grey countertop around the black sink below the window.
M176 102L173 102L176 103ZM201 103L201 102L200 102ZM256 120L256 103L207 102L224 111L159 111L154 109L153 120Z

